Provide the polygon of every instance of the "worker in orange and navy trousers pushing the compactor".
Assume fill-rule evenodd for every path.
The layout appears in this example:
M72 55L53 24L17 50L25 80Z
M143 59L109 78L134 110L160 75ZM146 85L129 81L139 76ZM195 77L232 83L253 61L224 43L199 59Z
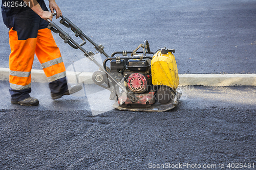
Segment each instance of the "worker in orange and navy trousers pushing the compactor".
M44 0L2 0L2 16L9 28L11 53L9 56L11 103L37 106L39 101L30 96L31 69L36 54L49 82L52 99L59 99L82 89L81 85L68 89L66 69L51 30L47 28L54 10L61 10L49 0L48 11Z

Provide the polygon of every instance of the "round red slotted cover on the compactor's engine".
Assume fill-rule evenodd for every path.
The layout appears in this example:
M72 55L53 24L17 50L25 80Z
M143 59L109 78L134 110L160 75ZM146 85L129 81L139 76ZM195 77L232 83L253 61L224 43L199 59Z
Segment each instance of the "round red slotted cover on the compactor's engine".
M127 79L127 86L133 92L143 93L146 91L147 79L144 75L139 73L131 74Z

